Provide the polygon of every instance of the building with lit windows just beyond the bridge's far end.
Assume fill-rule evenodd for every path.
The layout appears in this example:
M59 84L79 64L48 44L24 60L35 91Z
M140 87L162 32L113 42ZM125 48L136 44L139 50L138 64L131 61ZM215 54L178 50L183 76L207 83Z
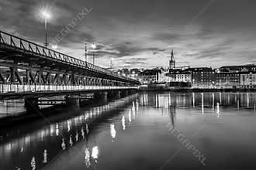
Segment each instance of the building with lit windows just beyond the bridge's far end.
M161 70L144 70L139 73L139 81L142 84L158 83L161 76Z

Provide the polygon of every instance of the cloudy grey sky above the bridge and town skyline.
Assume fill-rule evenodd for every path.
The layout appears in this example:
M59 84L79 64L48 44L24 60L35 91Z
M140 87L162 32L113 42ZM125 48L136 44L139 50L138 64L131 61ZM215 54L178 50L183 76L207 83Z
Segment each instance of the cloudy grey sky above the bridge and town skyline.
M0 29L42 44L42 8L50 45L84 59L95 43L99 66L167 67L171 49L178 66L256 63L254 0L1 0Z

